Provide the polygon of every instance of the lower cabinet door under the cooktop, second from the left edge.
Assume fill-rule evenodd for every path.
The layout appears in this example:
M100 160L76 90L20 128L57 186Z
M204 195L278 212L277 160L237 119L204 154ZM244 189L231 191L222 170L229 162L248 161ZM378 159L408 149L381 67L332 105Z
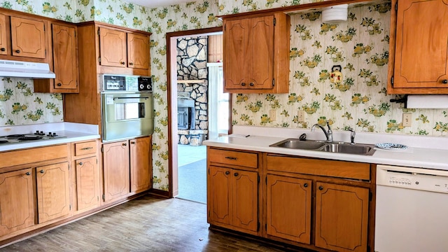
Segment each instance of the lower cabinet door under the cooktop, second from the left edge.
M44 223L70 212L69 165L36 167L38 223Z

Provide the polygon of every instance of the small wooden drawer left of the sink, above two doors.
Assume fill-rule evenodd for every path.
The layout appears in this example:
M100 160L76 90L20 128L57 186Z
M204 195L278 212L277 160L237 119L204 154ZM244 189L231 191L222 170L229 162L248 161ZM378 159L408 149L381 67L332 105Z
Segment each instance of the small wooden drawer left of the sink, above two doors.
M244 153L241 151L225 151L209 148L207 155L210 162L217 162L225 165L238 165L243 167L258 168L258 154Z

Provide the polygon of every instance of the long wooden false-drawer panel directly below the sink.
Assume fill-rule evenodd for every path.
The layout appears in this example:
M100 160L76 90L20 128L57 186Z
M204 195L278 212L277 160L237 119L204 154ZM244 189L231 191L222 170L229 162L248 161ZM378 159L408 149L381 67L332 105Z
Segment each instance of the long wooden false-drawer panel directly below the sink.
M267 170L370 180L370 164L267 155Z

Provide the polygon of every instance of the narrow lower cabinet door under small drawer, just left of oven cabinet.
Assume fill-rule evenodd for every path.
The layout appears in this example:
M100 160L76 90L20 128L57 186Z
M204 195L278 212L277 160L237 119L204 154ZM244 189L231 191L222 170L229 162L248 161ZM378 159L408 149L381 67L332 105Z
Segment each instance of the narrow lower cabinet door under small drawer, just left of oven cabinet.
M99 206L99 169L97 157L76 160L77 211Z

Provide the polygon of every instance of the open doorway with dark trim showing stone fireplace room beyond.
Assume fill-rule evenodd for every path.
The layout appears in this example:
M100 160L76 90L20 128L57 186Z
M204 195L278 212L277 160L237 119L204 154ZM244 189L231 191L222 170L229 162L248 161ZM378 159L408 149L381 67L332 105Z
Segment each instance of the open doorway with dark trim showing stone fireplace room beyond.
M207 48L207 60L194 62L203 48L194 41L216 36L222 46L221 34L222 27L167 34L169 197L207 203L207 148L202 141L228 134L230 97L222 94L222 56L207 65L211 52ZM179 52L179 48L187 50ZM188 69L191 64L194 67ZM218 117L223 107L225 112Z

